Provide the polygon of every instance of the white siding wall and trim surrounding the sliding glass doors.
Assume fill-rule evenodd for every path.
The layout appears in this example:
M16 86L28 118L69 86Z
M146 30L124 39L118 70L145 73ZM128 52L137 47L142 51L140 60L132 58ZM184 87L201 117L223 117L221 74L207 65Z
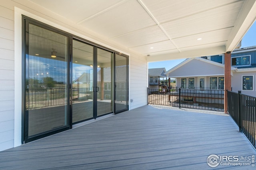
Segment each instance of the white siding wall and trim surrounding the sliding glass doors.
M23 0L0 1L0 151L21 145L21 14L72 33L129 57L129 108L147 104L146 58L92 30L76 26L61 16ZM14 41L15 39L15 41ZM15 84L15 86L14 86Z

